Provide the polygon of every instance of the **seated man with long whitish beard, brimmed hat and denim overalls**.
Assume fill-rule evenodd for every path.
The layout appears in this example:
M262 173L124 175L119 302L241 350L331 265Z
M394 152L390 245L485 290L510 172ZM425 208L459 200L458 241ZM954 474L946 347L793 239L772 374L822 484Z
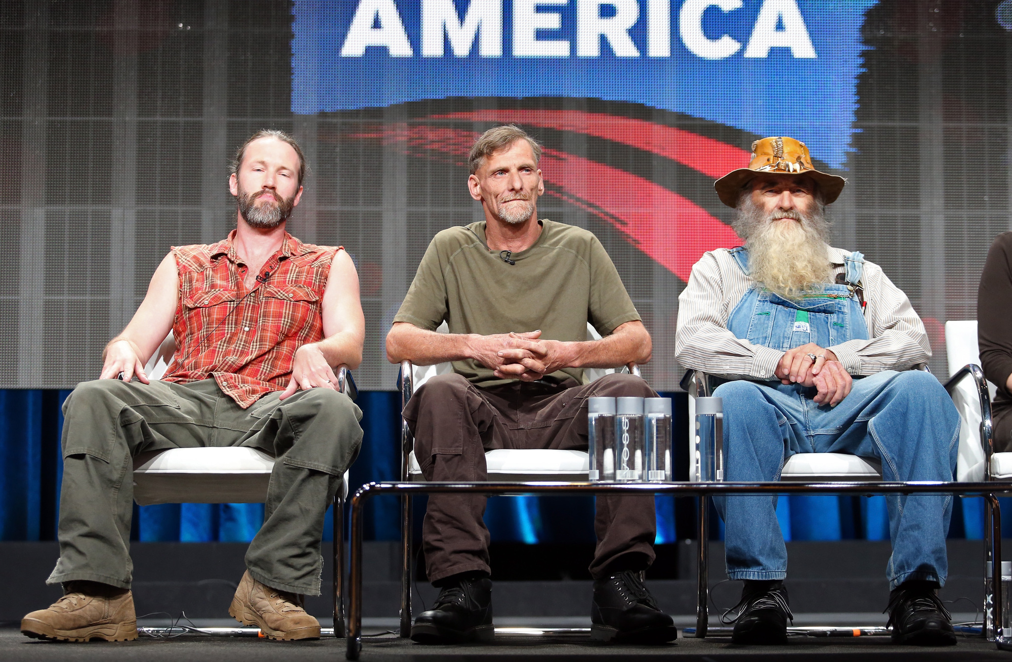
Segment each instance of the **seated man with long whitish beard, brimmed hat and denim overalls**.
M929 373L930 345L906 295L859 252L826 243L825 206L842 177L819 172L804 143L765 138L752 161L719 179L745 246L705 253L679 297L675 352L729 381L725 479L776 481L798 452L881 464L887 481L950 481L959 416ZM742 644L786 642L792 617L775 496L714 497L726 524L728 577L744 580L729 610ZM888 497L893 640L951 645L936 592L947 572L948 496Z

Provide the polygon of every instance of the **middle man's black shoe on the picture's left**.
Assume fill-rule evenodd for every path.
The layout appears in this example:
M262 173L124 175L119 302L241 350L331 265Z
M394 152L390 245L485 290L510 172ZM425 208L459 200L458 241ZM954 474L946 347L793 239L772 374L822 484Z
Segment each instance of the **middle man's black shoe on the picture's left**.
M411 639L420 644L490 642L495 636L492 580L488 577L460 579L444 586L432 608L418 614L411 627Z

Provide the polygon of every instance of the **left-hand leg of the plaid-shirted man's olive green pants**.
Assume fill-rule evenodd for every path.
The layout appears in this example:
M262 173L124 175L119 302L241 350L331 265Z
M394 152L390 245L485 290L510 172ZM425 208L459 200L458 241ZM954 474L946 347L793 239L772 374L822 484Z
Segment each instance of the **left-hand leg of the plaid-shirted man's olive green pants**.
M214 400L165 382L95 380L64 403L60 560L47 583L87 579L130 588L134 457L203 445ZM206 402L204 402L206 400ZM202 414L207 409L208 414ZM194 424L194 421L197 424Z

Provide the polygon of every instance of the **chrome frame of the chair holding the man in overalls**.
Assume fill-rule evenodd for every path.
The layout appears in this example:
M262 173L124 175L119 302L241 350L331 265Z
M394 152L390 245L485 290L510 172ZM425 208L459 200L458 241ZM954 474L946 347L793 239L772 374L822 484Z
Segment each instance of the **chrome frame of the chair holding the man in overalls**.
M927 369L925 365L915 366L915 369ZM984 452L987 458L986 471L985 471L985 484L993 482L991 478L991 456L994 451L994 439L992 434L992 419L991 419L991 395L988 392L988 383L984 378L984 371L979 365L969 363L959 368L949 380L943 385L945 390L952 395L952 391L962 380L971 378L974 380L974 384L977 387L977 395L981 406L981 443L984 445ZM689 370L686 373L685 377L682 379L681 387L684 391L692 392L696 396L709 397L713 393L713 389L716 387L713 384L713 377L706 375L698 370ZM844 484L858 484L858 483L844 483ZM953 482L953 484L958 485L959 483ZM806 492L805 486L810 485L809 483L802 483L797 481L789 481L778 483L778 485L790 485L792 487L790 492ZM968 485L968 484L964 484ZM1007 491L1009 486L1004 486L1005 489L1002 491ZM786 491L786 490L785 490ZM816 492L817 490L811 490ZM822 493L822 491L818 491ZM953 491L953 494L957 492ZM982 493L980 496L984 497L984 561L985 561L985 577L984 577L984 628L982 629L982 635L990 640L998 639L1000 641L1000 626L996 624L1001 623L1001 605L997 604L998 593L1000 591L1001 582L996 582L994 579L995 568L1001 568L1001 564L995 564L995 559L1001 559L1001 525L995 524L995 522L1000 522L1001 512L998 505L998 499L995 497L994 493ZM708 499L704 496L699 497L698 509L696 514L698 521L696 522L696 535L697 535L697 546L696 546L696 562L697 562L697 573L696 573L696 630L695 637L697 639L702 639L706 637L706 631L708 628L708 611L707 611L707 601L709 596L709 511L708 511ZM997 541L994 539L997 536ZM992 569L991 576L987 573L988 563L991 563L990 567Z

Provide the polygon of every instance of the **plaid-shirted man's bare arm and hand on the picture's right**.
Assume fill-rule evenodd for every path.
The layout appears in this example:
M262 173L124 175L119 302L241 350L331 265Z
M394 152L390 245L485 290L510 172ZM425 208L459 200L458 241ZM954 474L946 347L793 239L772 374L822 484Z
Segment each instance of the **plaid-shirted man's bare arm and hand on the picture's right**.
M323 293L323 340L296 350L291 381L281 394L286 399L299 389L337 389L334 367L358 367L365 341L365 316L358 294L358 273L347 252L339 250L330 266Z

